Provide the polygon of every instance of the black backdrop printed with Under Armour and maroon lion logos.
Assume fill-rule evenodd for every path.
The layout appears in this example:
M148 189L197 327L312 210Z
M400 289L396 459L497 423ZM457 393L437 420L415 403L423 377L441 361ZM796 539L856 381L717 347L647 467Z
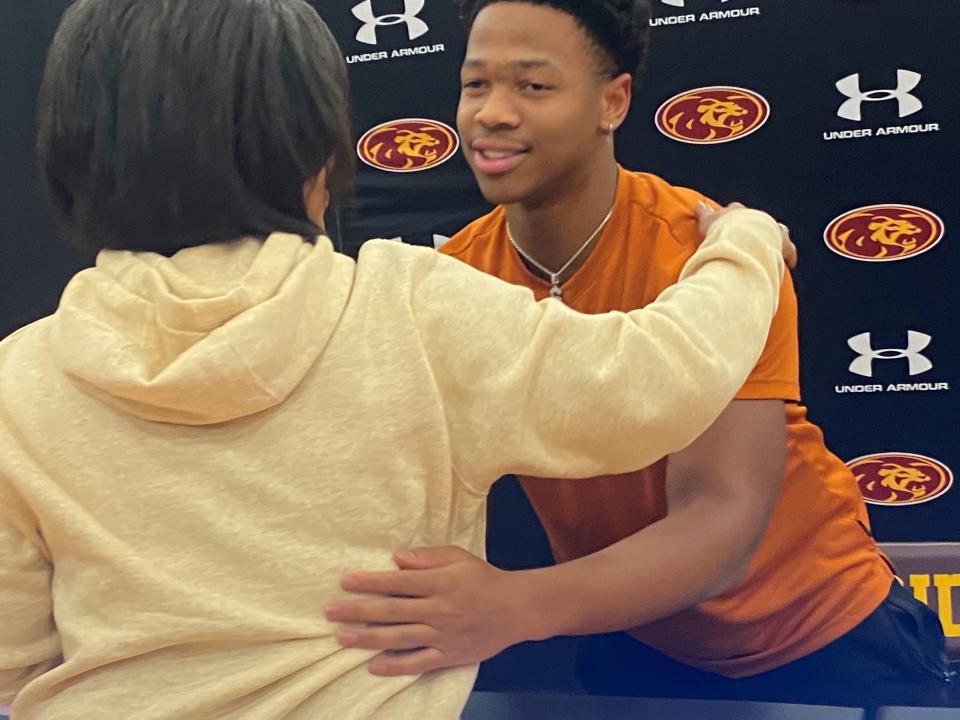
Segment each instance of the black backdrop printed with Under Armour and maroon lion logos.
M0 23L0 336L50 312L65 280L85 262L56 238L30 147L42 57L67 4L7 4ZM653 4L649 72L617 135L621 162L721 202L740 200L768 210L791 226L802 258L796 273L801 366L813 419L844 460L879 455L858 470L864 482L874 481L865 489L875 499L897 500L870 506L879 539L960 541L960 491L948 482L949 468L960 469L954 389L960 331L953 317L960 300L960 247L953 233L960 224L960 2ZM349 63L358 138L386 124L385 134L374 138L381 162L390 147L394 159L404 159L396 145L404 129L439 143L436 158L429 150L414 152L417 172L387 172L358 160L356 200L331 222L340 247L353 253L369 237L442 242L487 209L461 155L443 160L443 133L430 124L455 124L464 33L452 3L314 5ZM681 142L658 129L654 118L665 101L716 87L764 98L766 122L722 143ZM720 92L738 102L735 90ZM852 119L858 111L860 119ZM417 121L394 122L410 118ZM878 132L889 127L895 128L890 134ZM911 127L918 132L899 132ZM865 130L872 136L864 137ZM869 240L857 246L856 232L848 239L848 256L828 247L825 230L834 218L883 204L920 210L879 208L865 219L861 214L847 220L840 232L859 227L870 234L871 223L883 232L880 226L906 213L909 224L900 226L914 233L907 240L919 241L918 250L926 246L925 252L901 245L892 248L899 259L877 261L879 246ZM944 232L927 232L931 213ZM911 331L922 336L908 342ZM908 385L898 389L901 384ZM891 454L919 457L885 457ZM885 487L877 475L884 467L895 470L895 481L907 480L896 486L906 489ZM497 489L494 508L491 554L498 562L517 567L548 561L515 486Z

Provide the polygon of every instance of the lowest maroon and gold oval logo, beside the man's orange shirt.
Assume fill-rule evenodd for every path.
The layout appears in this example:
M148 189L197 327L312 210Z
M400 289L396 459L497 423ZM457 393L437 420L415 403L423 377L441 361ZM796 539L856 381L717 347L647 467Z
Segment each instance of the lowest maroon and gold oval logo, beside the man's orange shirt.
M916 505L940 497L953 485L950 468L913 453L865 455L847 467L871 505Z

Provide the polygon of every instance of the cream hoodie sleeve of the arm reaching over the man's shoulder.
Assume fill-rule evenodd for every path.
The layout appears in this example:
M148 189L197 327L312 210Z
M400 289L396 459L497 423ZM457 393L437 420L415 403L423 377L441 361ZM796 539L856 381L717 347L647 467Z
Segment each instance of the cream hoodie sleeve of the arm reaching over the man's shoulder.
M414 312L456 473L486 492L508 473L619 474L684 448L756 363L783 272L780 230L754 210L721 217L680 281L631 313L538 303L438 255Z

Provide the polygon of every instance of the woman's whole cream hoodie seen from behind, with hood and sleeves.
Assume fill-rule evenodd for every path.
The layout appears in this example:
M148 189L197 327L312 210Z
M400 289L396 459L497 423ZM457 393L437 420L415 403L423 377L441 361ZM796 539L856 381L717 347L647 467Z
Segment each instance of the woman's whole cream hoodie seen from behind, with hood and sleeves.
M390 242L101 253L0 344L0 704L458 717L475 668L378 679L338 647L340 576L482 553L505 473L621 473L691 442L759 356L781 273L747 210L629 315Z

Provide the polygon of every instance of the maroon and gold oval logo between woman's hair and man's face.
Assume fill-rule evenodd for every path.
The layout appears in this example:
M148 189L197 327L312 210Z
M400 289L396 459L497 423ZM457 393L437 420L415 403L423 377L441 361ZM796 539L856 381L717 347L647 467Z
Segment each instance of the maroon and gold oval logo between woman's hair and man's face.
M460 138L449 125L407 118L368 130L357 143L357 154L379 170L419 172L442 165L459 148Z

